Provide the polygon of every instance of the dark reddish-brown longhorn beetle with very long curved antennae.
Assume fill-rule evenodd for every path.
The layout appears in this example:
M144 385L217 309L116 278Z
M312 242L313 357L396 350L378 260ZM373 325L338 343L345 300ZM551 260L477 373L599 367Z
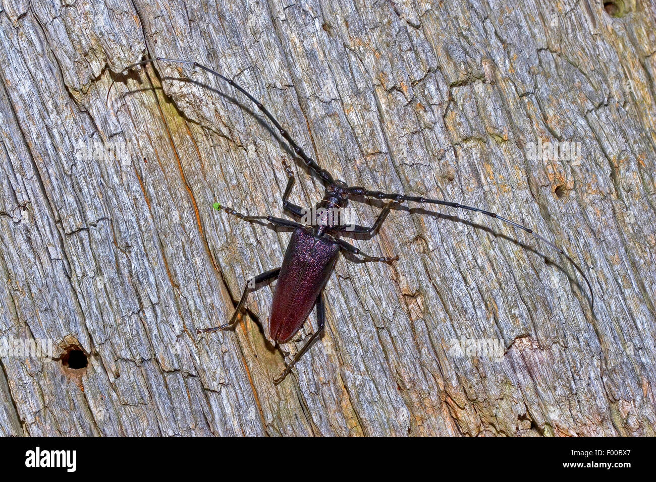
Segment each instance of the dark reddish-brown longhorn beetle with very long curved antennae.
M296 221L287 220L284 218L276 218L274 216L248 216L246 214L241 214L240 212L235 211L230 207L221 208L220 205L216 205L217 209L223 209L226 213L237 216L237 218L244 220L246 222L264 224L268 222L273 226L279 226L283 228L293 228L293 233L287 245L287 251L285 251L285 257L283 258L283 264L279 268L274 270L265 271L255 277L249 279L246 283L246 286L243 289L239 303L228 321L223 325L218 327L206 328L197 330L197 333L203 332L214 332L218 330L224 330L226 328L232 327L237 321L237 317L241 312L245 302L246 297L249 294L249 291L255 288L257 283L262 283L263 281L268 281L271 279L277 278L276 289L274 291L274 300L271 307L271 315L269 321L269 331L270 334L276 342L276 344L282 344L291 340L291 338L300 330L300 328L305 323L306 319L310 315L312 308L316 306L317 309L317 321L318 321L318 330L310 336L310 339L304 344L297 355L293 358L291 363L287 365L287 368L274 379L275 384L279 384L288 374L291 372L291 369L296 365L300 357L308 351L308 348L312 346L312 343L323 331L323 326L325 325L325 306L323 304L323 287L325 287L328 278L330 277L333 268L335 266L335 261L337 261L337 256L340 251L346 251L348 253L360 256L361 261L379 261L390 263L392 261L398 260L398 256L384 256L376 257L369 256L364 254L354 245L344 241L339 236L343 235L346 232L350 233L362 233L369 235L369 237L375 235L380 228L380 225L384 222L388 212L396 205L402 203L403 201L410 201L412 203L429 203L437 204L447 207L453 207L458 209L464 209L465 211L475 211L481 212L486 216L499 219L503 222L511 224L515 228L524 230L529 234L532 234L535 239L538 241L543 241L552 249L560 252L564 255L571 264L576 268L583 279L588 285L588 290L590 290L590 306L594 306L594 292L592 292L592 287L590 286L590 281L583 273L583 270L579 265L567 254L565 251L560 249L554 243L546 239L545 237L539 235L531 228L527 228L518 224L514 221L511 221L508 218L499 216L494 212L485 211L485 209L479 209L477 207L465 206L460 203L455 203L453 201L444 201L441 199L428 199L426 197L420 196L408 196L398 193L384 193L381 191L368 190L362 188L361 186L348 186L344 181L335 179L330 172L322 169L314 159L308 156L305 151L298 146L298 144L291 138L289 132L287 132L276 118L270 113L263 105L262 102L253 97L249 92L244 90L241 86L237 85L228 77L224 77L215 70L212 70L209 67L199 64L198 62L190 62L188 60L174 60L171 58L148 58L142 62L136 62L131 66L127 66L123 69L119 75L121 75L126 70L130 70L136 66L142 66L150 62L169 62L175 64L186 64L194 66L205 70L212 75L216 75L219 79L227 82L232 85L235 89L239 90L242 94L247 96L257 108L262 111L262 113L271 121L271 123L276 127L277 131L280 133L289 145L293 148L294 152L302 159L305 165L312 171L316 176L321 179L325 186L325 195L323 199L317 203L316 208L319 210L325 211L326 209L338 209L341 210L348 204L350 199L354 201L359 201L357 198L373 198L373 199L390 199L390 202L386 203L380 214L376 218L373 226L359 226L357 224L346 225L338 224L334 222L333 216L326 216L321 218L321 222L316 224L312 223L312 226L306 226L300 224ZM110 91L114 85L115 80L112 81L110 88L107 91L106 104L110 97ZM306 213L304 209L300 206L297 206L293 203L290 203L287 199L289 198L289 193L294 186L295 178L294 174L291 171L291 167L283 160L283 168L285 169L285 174L287 174L287 187L282 197L283 210L294 214L295 216L304 216ZM356 198L356 199L354 199ZM362 201L360 201L362 202Z

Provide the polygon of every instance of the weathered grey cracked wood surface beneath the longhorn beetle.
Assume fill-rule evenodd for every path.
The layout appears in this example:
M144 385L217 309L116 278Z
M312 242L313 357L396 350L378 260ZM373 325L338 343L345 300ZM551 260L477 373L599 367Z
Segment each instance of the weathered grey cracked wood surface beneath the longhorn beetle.
M611 4L3 2L0 336L56 353L2 354L0 433L654 435L655 5ZM117 75L144 56L235 79L348 184L535 228L583 266L594 310L523 231L401 208L354 241L400 260L339 260L325 335L274 386L314 313L273 348L272 284L234 331L195 330L280 265L288 231L212 206L281 216L289 148L201 70ZM540 142L581 159L529 155ZM293 169L291 200L314 205L321 184Z

